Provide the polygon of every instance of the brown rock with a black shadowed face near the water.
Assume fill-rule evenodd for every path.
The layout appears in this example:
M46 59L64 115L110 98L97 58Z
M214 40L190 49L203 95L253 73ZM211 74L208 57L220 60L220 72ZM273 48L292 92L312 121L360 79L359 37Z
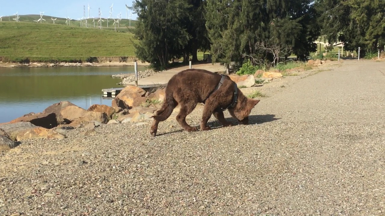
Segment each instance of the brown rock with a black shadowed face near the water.
M17 122L30 122L35 126L43 127L43 128L54 128L57 126L57 118L55 113L37 113L37 114L27 114L16 118L9 123L17 123Z

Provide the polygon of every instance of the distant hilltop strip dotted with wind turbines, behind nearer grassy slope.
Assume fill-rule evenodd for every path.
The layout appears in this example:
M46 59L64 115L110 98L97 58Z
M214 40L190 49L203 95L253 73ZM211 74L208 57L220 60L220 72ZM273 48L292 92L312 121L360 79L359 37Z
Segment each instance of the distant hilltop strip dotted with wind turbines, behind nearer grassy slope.
M15 15L13 16L5 16L5 17L2 17L2 22L5 22L5 21L8 21L8 22L16 22L15 20L13 20L13 18L16 18ZM42 23L49 23L49 24L53 24L54 21L51 20L51 18L55 19L55 25L67 25L65 23L66 21L66 18L61 18L61 17L51 17L51 16L45 16L43 15L43 19L42 20ZM70 17L70 25L74 25L74 26L79 26L80 27L80 20L78 20L77 18L74 18L74 17ZM97 17L95 17L97 18ZM114 18L114 17L113 17ZM36 23L35 21L33 20L39 20L40 19L40 15L39 14L31 14L31 15L19 15L19 21L20 22L32 22L32 23ZM114 18L116 21L117 21L117 18L115 17ZM87 19L87 23L88 23L88 27L89 28L94 28L94 23L92 22L94 19L93 18L90 18L90 19ZM102 18L102 20L104 20L104 22L102 22L102 28L107 28L107 19L105 18ZM83 20L83 23L85 22L85 20ZM135 27L135 24L136 24L136 20L131 20L131 27ZM39 22L40 23L40 22ZM39 24L39 23L36 23L36 24ZM114 20L113 19L108 19L108 29L110 30L115 30L115 27L114 25L112 25L114 23ZM85 25L83 25L84 28L85 28ZM95 20L95 28L97 26L97 20ZM119 31L127 31L127 27L130 27L130 20L128 19L122 19L119 21L119 28L118 26L116 25L116 30L119 30Z

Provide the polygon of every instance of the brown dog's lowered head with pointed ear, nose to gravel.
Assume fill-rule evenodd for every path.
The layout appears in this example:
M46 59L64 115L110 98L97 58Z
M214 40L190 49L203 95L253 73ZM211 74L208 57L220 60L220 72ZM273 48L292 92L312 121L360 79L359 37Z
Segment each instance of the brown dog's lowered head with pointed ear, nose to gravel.
M241 124L249 124L249 115L251 110L260 100L247 98L243 94L239 95L239 100L234 109L229 109L230 115L236 118Z

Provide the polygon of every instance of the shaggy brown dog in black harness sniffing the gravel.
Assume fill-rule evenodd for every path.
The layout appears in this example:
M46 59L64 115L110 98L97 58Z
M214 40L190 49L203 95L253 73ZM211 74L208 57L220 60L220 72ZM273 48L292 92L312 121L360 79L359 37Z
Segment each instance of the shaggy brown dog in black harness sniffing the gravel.
M196 131L186 123L186 116L194 110L197 103L204 103L201 130L210 130L207 121L214 114L223 126L232 126L225 120L223 111L228 109L233 118L244 125L249 123L251 109L259 102L247 98L229 76L212 73L202 69L187 69L172 76L166 86L166 98L160 110L152 116L154 121L150 133L156 136L160 121L166 120L177 105L181 110L176 116L179 125L186 131Z

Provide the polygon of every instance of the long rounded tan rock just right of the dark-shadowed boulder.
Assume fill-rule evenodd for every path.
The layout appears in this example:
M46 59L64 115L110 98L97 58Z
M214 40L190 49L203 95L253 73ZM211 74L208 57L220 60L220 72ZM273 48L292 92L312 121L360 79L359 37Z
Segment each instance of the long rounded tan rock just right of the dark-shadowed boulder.
M71 123L75 120L78 120L80 122L94 120L106 124L109 121L106 113L87 111L83 108L80 108L79 106L67 106L60 111L60 114L65 120L68 120Z

